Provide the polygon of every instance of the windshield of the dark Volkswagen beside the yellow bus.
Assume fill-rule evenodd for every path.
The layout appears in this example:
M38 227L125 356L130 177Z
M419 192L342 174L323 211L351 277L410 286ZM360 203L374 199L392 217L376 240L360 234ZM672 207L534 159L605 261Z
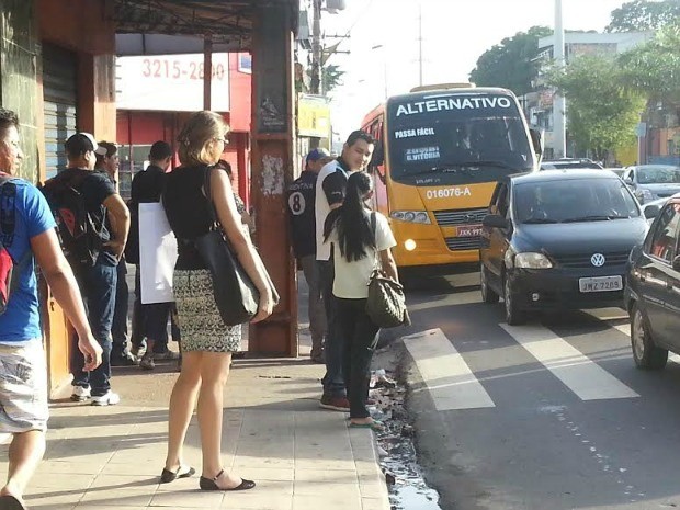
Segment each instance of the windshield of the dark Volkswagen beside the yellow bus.
M620 179L564 179L514 186L519 223L602 222L639 217L641 212Z

